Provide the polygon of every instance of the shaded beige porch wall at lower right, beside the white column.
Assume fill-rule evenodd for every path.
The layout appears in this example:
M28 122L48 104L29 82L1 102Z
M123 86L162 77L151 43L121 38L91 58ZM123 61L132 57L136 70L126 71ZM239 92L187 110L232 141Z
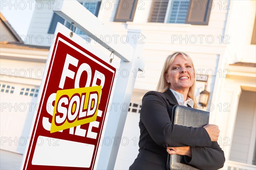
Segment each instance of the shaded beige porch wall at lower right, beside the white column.
M230 160L248 163L253 121L255 121L256 92L242 91L236 116ZM255 131L254 131L255 132ZM255 141L255 139L254 139ZM254 148L255 149L255 148ZM251 162L250 162L251 164Z

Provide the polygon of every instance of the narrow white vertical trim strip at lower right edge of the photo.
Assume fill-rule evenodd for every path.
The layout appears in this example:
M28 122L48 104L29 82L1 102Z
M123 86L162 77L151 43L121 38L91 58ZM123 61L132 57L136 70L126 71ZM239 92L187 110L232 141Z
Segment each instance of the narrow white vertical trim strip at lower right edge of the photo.
M255 139L256 139L256 106L254 108L253 126L252 126L251 137L250 137L247 164L253 164L253 154L254 154L254 150L255 150Z

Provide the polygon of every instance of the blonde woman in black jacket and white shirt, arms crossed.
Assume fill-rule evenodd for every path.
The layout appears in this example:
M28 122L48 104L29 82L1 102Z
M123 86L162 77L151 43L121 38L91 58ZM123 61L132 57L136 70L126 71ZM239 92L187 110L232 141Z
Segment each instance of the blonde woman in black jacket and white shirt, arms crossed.
M171 122L174 105L196 108L194 87L192 59L183 52L167 57L157 91L146 93L142 100L140 149L130 170L166 170L168 154L183 155L186 164L202 170L223 167L224 152L216 142L218 126L193 128Z

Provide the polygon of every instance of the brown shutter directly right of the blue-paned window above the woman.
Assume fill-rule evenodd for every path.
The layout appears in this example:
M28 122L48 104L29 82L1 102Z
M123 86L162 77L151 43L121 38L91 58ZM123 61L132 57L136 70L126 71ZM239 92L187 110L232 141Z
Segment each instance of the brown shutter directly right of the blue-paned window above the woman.
M212 3L212 0L190 0L185 23L208 25Z

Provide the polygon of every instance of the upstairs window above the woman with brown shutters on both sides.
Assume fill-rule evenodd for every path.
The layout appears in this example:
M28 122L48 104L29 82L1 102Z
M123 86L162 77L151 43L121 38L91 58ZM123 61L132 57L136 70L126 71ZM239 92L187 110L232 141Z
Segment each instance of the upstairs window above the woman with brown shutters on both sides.
M149 22L208 25L212 0L154 0Z

